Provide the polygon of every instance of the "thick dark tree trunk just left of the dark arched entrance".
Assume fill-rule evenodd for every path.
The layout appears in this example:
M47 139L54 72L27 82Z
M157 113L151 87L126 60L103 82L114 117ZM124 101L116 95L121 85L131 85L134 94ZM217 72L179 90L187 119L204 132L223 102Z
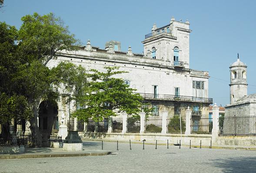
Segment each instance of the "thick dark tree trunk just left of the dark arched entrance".
M33 106L33 117L30 119L32 147L42 147L42 135L37 124L37 106Z

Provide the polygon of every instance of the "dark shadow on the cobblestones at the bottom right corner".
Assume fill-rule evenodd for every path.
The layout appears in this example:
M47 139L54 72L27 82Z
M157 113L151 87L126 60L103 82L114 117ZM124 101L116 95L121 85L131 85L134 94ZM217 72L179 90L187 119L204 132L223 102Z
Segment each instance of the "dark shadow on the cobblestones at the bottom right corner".
M225 173L255 173L256 157L234 157L212 160L212 166L222 168Z

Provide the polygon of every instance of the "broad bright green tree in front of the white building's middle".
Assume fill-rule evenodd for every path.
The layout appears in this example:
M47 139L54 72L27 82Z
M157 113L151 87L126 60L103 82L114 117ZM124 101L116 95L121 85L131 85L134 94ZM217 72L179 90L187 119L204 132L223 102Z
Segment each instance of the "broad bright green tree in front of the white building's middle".
M97 122L120 112L138 115L143 98L133 93L134 89L129 88L123 79L113 77L126 72L116 71L118 67L104 68L106 73L90 70L92 73L87 75L90 78L87 93L77 100L80 106L86 107L73 112L73 116L84 121L92 118Z

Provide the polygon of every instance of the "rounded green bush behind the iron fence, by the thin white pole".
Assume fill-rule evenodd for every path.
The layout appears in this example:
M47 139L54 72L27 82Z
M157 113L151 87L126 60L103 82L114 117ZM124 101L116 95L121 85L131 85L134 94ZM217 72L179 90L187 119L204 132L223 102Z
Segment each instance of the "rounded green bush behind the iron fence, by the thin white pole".
M186 131L186 124L183 119L181 119L181 131ZM180 115L174 115L173 118L170 119L168 132L174 134L180 133Z

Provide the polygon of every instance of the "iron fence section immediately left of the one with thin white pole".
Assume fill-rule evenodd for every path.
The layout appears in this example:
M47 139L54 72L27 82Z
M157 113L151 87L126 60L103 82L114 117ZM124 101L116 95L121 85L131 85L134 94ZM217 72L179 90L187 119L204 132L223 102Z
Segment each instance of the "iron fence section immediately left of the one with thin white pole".
M145 119L145 132L146 133L161 133L162 131L162 117L149 116Z

